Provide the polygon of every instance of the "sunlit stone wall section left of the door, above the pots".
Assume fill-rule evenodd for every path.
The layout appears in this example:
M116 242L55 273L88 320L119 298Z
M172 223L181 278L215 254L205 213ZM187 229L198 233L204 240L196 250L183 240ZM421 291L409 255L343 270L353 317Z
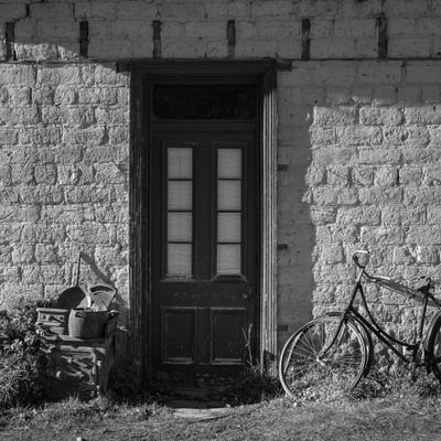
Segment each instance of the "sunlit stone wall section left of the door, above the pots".
M78 249L128 300L128 86L111 65L0 64L0 303L60 293Z

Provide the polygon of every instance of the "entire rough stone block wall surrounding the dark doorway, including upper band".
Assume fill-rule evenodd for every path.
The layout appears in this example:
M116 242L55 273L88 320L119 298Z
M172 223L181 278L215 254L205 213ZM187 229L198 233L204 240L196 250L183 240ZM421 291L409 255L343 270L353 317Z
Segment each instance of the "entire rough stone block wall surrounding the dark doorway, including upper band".
M289 63L280 342L341 308L356 248L374 272L437 269L440 56L441 0L0 0L0 304L54 297L80 247L130 308L130 75L117 62L138 58ZM376 312L405 333L415 305L379 294Z

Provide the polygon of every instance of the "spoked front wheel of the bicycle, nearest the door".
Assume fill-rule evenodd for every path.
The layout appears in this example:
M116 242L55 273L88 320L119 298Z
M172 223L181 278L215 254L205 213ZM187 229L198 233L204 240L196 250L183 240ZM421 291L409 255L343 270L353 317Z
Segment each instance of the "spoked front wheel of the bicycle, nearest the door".
M312 320L284 344L279 378L289 396L334 398L359 381L368 366L368 342L351 320L345 320L338 331L341 320L332 315Z

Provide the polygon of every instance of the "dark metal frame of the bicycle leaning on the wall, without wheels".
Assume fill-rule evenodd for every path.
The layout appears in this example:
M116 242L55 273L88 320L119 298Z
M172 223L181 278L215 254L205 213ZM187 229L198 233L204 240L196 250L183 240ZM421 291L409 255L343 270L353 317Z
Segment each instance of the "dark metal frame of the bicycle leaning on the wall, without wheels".
M416 335L415 342L413 343L404 342L401 340L395 338L388 332L386 332L378 324L378 322L374 319L373 314L370 313L370 310L369 310L367 301L366 301L365 292L364 292L364 289L363 289L362 279L363 278L366 278L368 280L369 279L370 280L378 280L378 279L367 275L367 272L365 271L364 267L359 267L359 268L361 268L361 270L359 270L357 280L355 282L354 290L353 290L352 295L351 295L351 300L349 300L346 309L343 312L342 320L341 320L341 322L340 322L340 324L337 326L337 330L335 332L335 336L332 338L332 341L329 344L329 346L323 351L322 356L325 356L327 354L327 352L330 351L330 348L335 343L344 321L347 320L348 318L352 318L355 322L362 324L365 329L367 329L370 332L373 332L376 335L376 337L381 343L384 343L386 346L388 346L401 361L404 361L407 364L412 362L412 363L416 364L416 366L423 366L426 364L426 359L418 361L417 359L417 356L418 356L417 353L418 353L418 348L419 348L419 346L421 344L421 341L422 341L422 333L423 333L423 326L424 326L426 315L427 315L427 306L429 304L429 301L434 303L435 306L438 308L438 310L441 311L441 304L433 297L432 292L430 292L429 284L419 290L419 292L421 294L423 294L423 303L422 303L422 312L421 312L421 315L420 315L420 319L419 319L419 322L418 322L418 334ZM357 311L357 309L354 306L354 301L355 301L355 299L357 297L357 293L359 293L359 295L362 298L363 306L366 310L368 320L364 315L362 315ZM406 355L402 354L402 352L398 351L398 348L396 347L397 345L402 347L402 348L406 348L408 351L411 351L412 358L411 359L407 358Z

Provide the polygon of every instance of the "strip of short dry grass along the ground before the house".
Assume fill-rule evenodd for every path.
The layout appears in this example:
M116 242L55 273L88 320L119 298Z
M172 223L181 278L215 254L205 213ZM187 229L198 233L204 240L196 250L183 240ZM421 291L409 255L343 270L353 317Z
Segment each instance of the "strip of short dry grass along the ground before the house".
M377 381L377 379L372 379ZM205 420L176 418L166 406L68 400L13 409L0 417L0 439L14 440L438 440L441 388L423 376L417 383L381 379L387 392L327 402L275 398L232 407ZM365 392L365 396L369 395ZM373 398L374 397L374 398Z

